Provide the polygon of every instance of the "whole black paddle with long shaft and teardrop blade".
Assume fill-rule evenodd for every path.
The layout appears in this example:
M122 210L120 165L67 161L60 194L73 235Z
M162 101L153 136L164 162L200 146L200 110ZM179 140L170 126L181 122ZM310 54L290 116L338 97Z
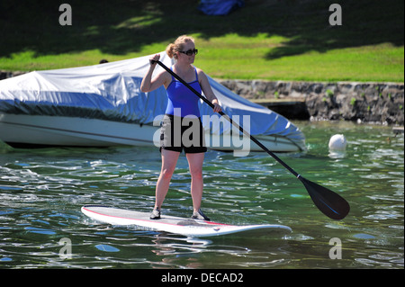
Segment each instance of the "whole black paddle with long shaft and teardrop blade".
M195 91L195 89L193 89L191 85L188 85L180 76L177 76L175 72L166 67L162 62L151 60L152 64L154 64L155 62L157 62L159 66L163 67L168 73L174 76L183 85L188 87L194 94L196 94L200 99L202 99L202 101L207 103L213 109L214 105L210 101L208 101L208 99L203 97L202 94ZM312 201L315 203L318 209L322 211L326 216L328 216L332 220L343 220L347 216L347 213L350 211L350 206L343 197L338 195L338 193L334 193L328 188L321 186L320 184L315 184L310 180L302 177L302 175L296 173L293 170L293 168L284 163L284 161L281 160L280 157L277 157L272 151L266 148L260 141L258 141L252 135L250 135L246 130L243 130L242 127L238 125L238 123L232 121L232 119L230 119L227 114L225 114L224 112L219 113L222 117L230 121L231 124L233 124L236 128L238 128L238 130L243 132L247 137L249 137L253 142L255 142L257 146L265 150L266 153L269 154L270 156L274 157L275 160L278 161L282 166L284 166L290 173L292 173L293 175L295 175L295 177L301 180L302 184L307 189L307 192L310 194Z

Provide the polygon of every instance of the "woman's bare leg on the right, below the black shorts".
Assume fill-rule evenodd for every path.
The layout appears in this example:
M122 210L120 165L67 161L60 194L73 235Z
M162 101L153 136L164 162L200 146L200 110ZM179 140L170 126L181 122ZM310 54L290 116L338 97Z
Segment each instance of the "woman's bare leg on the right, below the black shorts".
M192 175L191 194L193 198L193 211L198 211L202 202L202 163L204 153L186 154L190 174Z

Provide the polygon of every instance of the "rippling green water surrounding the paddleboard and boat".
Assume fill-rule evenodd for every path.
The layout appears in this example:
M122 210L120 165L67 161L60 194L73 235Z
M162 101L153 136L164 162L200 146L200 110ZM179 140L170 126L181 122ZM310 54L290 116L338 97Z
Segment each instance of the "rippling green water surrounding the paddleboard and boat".
M266 153L206 154L205 213L216 221L293 229L269 238L185 238L112 227L80 212L88 203L150 211L160 169L156 148L0 144L0 268L403 268L403 135L346 122L298 126L308 151L280 157L344 196L351 204L345 220L325 217L301 182ZM336 133L347 137L345 153L329 153ZM166 214L191 214L189 187L181 157ZM332 238L340 240L341 256L331 251Z

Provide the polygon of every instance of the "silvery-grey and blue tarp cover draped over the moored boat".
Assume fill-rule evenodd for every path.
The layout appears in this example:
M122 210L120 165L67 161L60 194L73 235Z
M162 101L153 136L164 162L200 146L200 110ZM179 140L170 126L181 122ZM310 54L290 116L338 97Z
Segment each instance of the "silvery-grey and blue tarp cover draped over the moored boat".
M173 65L166 52L160 61ZM148 71L149 56L130 58L88 67L34 71L0 81L0 112L13 114L67 116L107 121L149 124L163 117L167 95L164 86L150 93L140 91L140 83ZM157 66L154 73L162 67ZM154 74L155 75L155 74ZM218 97L222 111L232 119L250 116L250 134L273 135L290 139L302 150L305 138L291 121L257 103L232 93L208 76L212 90ZM200 100L200 112L212 116L211 108ZM220 129L207 127L211 133L229 133L229 125Z

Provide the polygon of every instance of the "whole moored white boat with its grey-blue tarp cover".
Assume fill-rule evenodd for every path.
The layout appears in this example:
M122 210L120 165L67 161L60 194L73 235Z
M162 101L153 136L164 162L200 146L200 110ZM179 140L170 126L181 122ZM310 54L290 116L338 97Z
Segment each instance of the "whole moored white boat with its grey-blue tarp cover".
M172 65L165 52L161 61ZM35 71L0 81L0 140L14 146L156 146L166 90L139 89L148 56L89 67ZM156 69L158 72L159 68ZM209 77L222 110L276 152L305 149L291 121ZM200 101L208 148L261 150Z

